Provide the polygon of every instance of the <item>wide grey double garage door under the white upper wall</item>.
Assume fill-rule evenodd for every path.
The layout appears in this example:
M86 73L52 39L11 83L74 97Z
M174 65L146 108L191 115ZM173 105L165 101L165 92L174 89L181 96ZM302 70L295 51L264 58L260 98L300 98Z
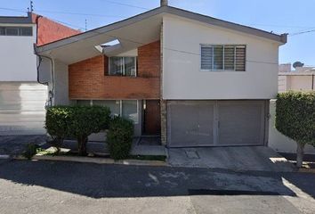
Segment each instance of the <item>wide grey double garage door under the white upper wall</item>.
M170 101L170 147L263 145L265 101Z

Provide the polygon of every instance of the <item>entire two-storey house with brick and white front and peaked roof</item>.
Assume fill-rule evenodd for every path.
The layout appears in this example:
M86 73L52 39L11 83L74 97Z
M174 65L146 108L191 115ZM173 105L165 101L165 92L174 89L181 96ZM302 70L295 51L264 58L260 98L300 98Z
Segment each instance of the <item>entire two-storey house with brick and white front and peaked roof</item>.
M112 45L113 43L116 45ZM266 145L276 35L161 6L36 48L52 104L101 104L169 147ZM48 62L48 60L46 61Z

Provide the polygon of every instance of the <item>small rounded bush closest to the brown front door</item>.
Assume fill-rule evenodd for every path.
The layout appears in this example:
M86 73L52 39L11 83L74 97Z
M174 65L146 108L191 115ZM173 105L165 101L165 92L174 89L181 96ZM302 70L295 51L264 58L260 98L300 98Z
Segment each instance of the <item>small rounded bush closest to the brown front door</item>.
M111 158L126 159L133 144L133 121L120 117L112 119L107 133L107 143Z

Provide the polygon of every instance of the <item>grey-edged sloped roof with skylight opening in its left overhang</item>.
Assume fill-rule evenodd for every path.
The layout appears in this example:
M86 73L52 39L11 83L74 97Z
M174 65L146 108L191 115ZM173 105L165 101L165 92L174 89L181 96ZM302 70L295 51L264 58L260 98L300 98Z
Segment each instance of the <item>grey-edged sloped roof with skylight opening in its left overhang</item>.
M254 37L262 37L279 45L287 43L287 34L277 35L261 29L218 20L195 12L162 6L123 21L117 21L76 36L37 46L36 54L49 56L52 59L70 64L100 55L101 53L108 56L125 53L141 45L146 45L160 39L160 29L165 15L179 16L191 21L202 22L209 26L229 29ZM118 40L119 44L103 46L113 40Z

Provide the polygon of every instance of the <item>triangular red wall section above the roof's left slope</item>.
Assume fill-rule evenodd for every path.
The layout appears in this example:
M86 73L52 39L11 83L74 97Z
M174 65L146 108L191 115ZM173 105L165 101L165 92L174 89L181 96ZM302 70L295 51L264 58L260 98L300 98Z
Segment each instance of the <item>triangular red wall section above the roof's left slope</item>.
M38 15L32 13L32 21L36 23L36 17ZM61 38L71 37L73 35L77 35L81 33L81 31L77 29L70 29L56 21L52 21L46 17L38 17L37 19L37 44L45 45L47 43L51 43Z

